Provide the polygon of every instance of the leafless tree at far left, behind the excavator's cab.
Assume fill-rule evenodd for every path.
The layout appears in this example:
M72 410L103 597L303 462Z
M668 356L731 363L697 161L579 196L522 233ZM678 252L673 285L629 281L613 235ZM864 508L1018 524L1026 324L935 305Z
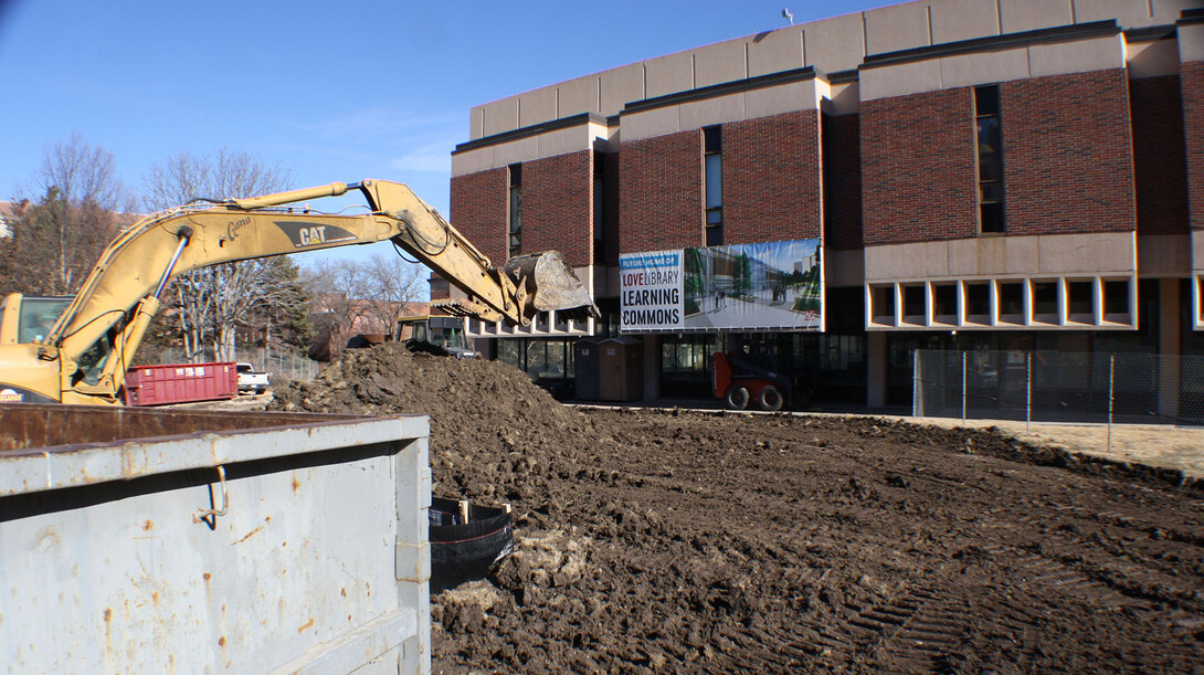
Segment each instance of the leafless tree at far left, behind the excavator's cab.
M48 146L31 179L40 195L20 196L0 278L12 290L75 291L117 233L114 209L131 203L117 179L113 155L76 134Z

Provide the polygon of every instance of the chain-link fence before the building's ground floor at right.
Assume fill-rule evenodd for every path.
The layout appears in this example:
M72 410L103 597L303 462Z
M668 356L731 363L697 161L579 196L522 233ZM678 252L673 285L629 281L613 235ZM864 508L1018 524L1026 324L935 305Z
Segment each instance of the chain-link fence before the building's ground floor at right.
M1204 356L915 351L917 418L1204 425Z

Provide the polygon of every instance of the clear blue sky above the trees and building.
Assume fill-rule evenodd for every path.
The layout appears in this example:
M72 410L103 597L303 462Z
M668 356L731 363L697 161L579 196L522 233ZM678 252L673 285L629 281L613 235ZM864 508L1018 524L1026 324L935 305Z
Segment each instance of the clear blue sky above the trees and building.
M135 191L154 162L229 148L294 186L388 178L447 213L474 105L781 28L784 6L885 4L0 0L0 200L78 132Z

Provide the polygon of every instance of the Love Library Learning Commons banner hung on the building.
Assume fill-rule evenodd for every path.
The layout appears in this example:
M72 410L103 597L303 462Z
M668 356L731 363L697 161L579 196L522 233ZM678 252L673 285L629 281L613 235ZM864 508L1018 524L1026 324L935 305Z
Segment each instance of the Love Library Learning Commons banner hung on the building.
M620 331L819 331L819 239L619 256Z

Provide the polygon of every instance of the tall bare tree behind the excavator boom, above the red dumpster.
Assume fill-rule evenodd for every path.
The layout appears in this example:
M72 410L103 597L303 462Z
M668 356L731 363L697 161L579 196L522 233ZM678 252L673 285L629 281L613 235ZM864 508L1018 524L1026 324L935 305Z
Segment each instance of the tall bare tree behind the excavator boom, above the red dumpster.
M182 153L155 164L146 179L147 205L154 209L197 199L230 199L283 190L288 173L248 153L219 150L208 158ZM212 345L214 357L236 357L238 325L267 308L299 302L295 264L253 259L195 270L175 283L179 330L187 357Z

